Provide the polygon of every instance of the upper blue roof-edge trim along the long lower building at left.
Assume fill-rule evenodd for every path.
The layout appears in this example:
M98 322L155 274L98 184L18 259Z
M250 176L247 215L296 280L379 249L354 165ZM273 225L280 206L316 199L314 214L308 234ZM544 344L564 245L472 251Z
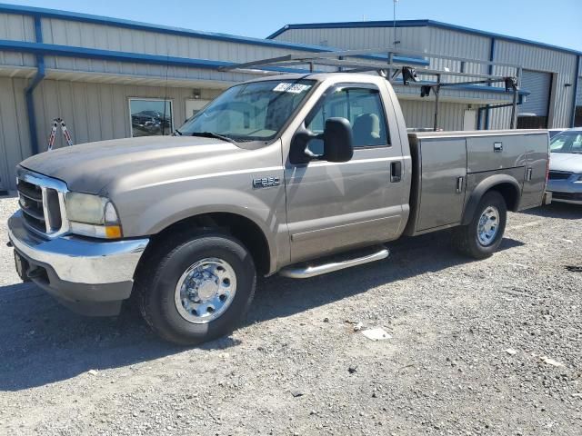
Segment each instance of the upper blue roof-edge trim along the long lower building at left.
M182 27L172 27L167 25L152 25L149 23L142 23L138 21L124 20L121 18L113 18L109 16L101 15L89 15L80 14L76 12L59 11L55 9L47 9L44 7L32 7L32 6L21 6L21 5L6 5L0 4L0 13L5 14L20 14L20 15L31 15L40 16L45 18L56 18L68 21L79 21L84 23L94 23L98 25L113 25L115 27L124 27L127 29L134 30L144 30L147 32L158 32L168 35L181 35L196 37L201 39L208 39L214 41L223 41L228 43L237 44L247 44L247 45L264 45L273 48L284 48L288 50L301 50L305 52L335 52L338 48L335 47L324 47L319 45L306 45L306 44L296 44L296 43L286 43L281 41L272 41L270 39L260 39L251 38L246 36L237 35L227 35L219 34L214 32L202 32L191 29L185 29ZM376 61L386 61L387 56L385 55L361 55L358 58L376 60ZM407 64L417 64L426 65L428 61L416 57L397 57L395 56L395 61Z

